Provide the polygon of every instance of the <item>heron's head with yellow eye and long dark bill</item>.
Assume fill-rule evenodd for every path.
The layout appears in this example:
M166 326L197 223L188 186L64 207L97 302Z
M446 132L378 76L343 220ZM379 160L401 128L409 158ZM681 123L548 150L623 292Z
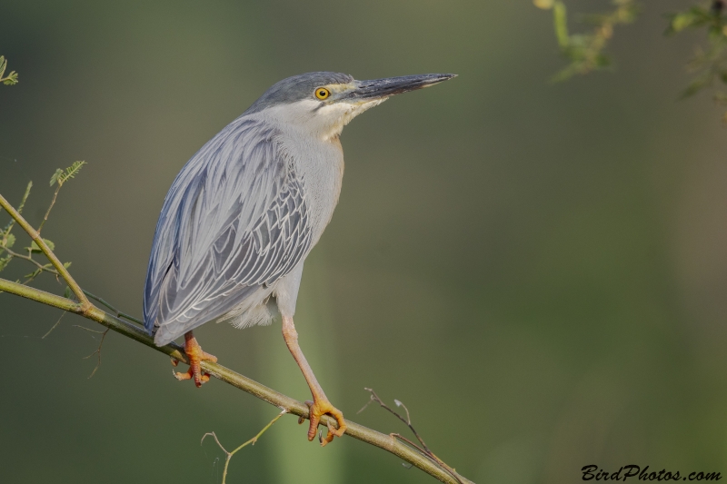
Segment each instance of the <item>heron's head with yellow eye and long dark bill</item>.
M422 89L455 75L405 75L372 81L326 72L294 75L274 84L244 115L257 114L330 139L338 136L355 116L394 94Z

